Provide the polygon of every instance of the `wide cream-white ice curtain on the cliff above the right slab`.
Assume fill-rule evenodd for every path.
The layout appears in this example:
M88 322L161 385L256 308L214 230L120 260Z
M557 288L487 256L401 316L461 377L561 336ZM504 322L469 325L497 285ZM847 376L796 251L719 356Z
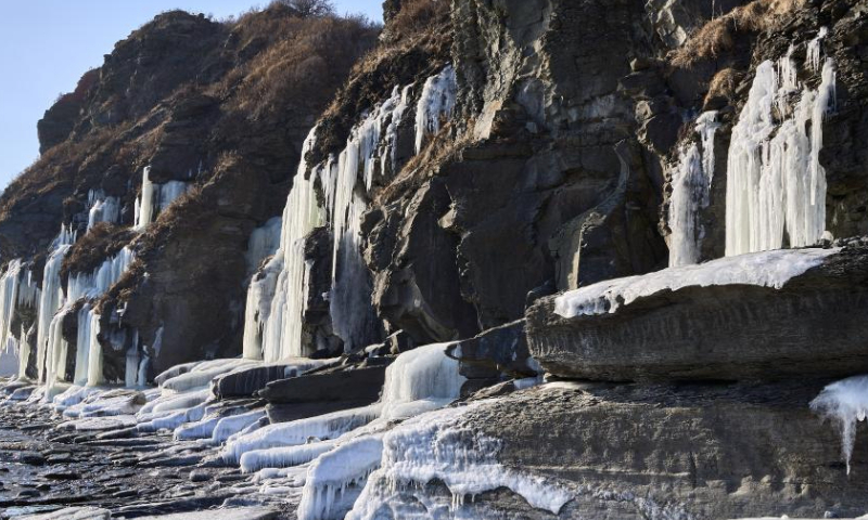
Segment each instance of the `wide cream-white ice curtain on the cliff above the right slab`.
M819 37L821 38L821 36ZM819 68L819 40L808 50ZM834 104L832 60L816 90L799 91L789 54L756 68L748 103L732 129L726 204L726 255L816 244L826 230L826 172L819 162L822 121ZM778 116L776 116L776 112Z

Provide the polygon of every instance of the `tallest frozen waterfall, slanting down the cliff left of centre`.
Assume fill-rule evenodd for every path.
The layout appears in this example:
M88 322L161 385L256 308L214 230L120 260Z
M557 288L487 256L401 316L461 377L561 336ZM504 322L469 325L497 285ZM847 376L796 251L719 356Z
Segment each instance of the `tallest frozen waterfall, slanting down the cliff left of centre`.
M416 105L418 148L422 139L437 131L441 119L451 115L455 81L451 66L425 81ZM398 128L412 106L411 93L412 84L395 87L388 99L353 128L344 150L320 165L304 160L314 145L316 128L308 134L284 208L280 247L247 289L245 358L273 362L310 353L305 351L309 346L302 344L309 278L305 237L327 220L333 235L329 304L334 333L347 351L375 339L370 274L360 250L361 214L376 177L397 168ZM318 206L315 181L321 186L324 208Z

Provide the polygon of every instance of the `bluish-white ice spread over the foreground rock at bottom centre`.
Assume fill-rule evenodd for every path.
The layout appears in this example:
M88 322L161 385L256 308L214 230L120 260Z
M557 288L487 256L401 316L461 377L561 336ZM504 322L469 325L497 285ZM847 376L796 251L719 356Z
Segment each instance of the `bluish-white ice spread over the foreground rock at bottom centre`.
M456 510L468 496L508 487L531 506L557 515L572 499L566 490L540 477L503 467L497 461L499 441L474 432L462 421L464 414L482 404L431 412L386 433L382 466L370 476L346 519L383 518L385 508L393 506L394 518L431 518L427 511L414 517L393 500L399 492L421 490L434 479L449 489Z

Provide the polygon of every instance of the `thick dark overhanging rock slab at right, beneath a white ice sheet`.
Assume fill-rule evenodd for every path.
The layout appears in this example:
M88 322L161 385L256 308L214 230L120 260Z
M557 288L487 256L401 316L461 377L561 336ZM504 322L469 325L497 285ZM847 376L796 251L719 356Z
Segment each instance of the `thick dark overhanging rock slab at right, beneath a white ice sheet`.
M531 354L549 373L604 381L774 380L868 373L868 247L847 247L780 289L660 290L614 312L527 311Z

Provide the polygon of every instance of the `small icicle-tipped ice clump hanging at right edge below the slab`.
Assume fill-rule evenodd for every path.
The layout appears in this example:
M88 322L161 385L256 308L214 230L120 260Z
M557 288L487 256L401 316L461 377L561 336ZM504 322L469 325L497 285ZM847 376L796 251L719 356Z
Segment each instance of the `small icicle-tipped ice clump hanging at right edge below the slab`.
M851 377L827 386L810 402L810 408L837 422L841 430L841 453L850 474L850 460L856 443L856 422L868 417L868 376Z

